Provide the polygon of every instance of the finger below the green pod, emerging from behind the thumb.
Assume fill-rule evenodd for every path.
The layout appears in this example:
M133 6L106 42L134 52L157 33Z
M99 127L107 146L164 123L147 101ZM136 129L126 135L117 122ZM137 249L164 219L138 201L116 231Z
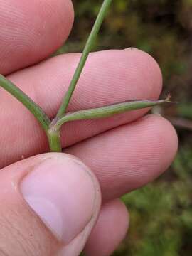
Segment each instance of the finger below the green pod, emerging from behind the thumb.
M163 117L149 115L65 149L90 166L100 181L102 201L146 185L174 160L178 139Z

